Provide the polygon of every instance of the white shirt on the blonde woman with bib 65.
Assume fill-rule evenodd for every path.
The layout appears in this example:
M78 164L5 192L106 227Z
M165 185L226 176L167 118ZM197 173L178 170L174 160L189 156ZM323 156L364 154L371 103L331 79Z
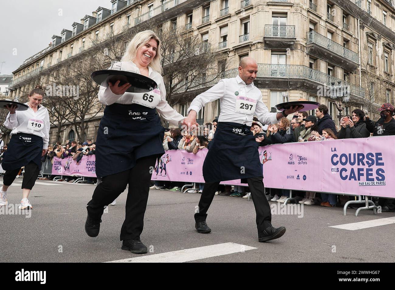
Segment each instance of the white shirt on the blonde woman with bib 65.
M134 62L121 62L121 69L122 71L133 71L135 73L141 74L139 68L134 64ZM167 103L166 88L163 77L160 75L160 73L153 71L150 66L148 66L148 76L158 84L158 88L160 90L161 100L156 106L156 110L171 124L179 125L179 123L181 123L186 117L179 114ZM105 88L100 86L98 97L100 103L103 105L112 105L113 103L130 105L132 104L134 93L126 92L123 95L117 95L111 91L110 87Z

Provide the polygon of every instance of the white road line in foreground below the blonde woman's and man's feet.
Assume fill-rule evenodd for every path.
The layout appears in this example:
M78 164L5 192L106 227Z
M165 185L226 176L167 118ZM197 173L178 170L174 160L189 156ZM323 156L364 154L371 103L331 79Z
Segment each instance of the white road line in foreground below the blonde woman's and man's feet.
M182 263L256 249L236 243L222 243L161 254L127 258L107 263Z

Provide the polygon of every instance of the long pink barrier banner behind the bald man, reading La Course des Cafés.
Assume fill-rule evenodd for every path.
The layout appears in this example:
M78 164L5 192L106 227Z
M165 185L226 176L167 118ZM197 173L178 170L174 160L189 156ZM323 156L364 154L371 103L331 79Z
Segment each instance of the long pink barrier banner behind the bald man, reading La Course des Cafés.
M295 142L259 147L266 187L395 198L395 136ZM204 182L207 149L168 150L152 180ZM223 184L246 185L240 180Z

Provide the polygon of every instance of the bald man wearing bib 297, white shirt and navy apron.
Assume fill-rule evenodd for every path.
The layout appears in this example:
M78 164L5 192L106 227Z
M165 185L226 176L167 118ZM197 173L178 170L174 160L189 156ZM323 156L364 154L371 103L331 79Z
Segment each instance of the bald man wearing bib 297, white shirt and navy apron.
M256 115L262 124L275 124L282 117L297 112L303 107L291 107L282 113L270 113L262 101L261 91L254 86L258 64L253 58L245 57L239 64L235 78L222 79L198 95L188 108L188 117L183 124L196 124L196 115L206 104L220 99L220 116L213 141L203 163L205 184L200 197L198 212L195 213L195 228L207 234L207 210L213 201L221 181L241 180L248 183L256 211L258 241L280 238L285 227L274 228L271 224L269 202L265 197L262 166L258 145L250 131L252 117Z

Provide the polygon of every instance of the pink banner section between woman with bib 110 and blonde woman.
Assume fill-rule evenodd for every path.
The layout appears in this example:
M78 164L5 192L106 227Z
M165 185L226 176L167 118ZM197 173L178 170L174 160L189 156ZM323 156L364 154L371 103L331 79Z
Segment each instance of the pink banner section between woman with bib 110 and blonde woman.
M71 156L65 159L53 157L52 174L96 177L96 156L83 156L78 164Z

